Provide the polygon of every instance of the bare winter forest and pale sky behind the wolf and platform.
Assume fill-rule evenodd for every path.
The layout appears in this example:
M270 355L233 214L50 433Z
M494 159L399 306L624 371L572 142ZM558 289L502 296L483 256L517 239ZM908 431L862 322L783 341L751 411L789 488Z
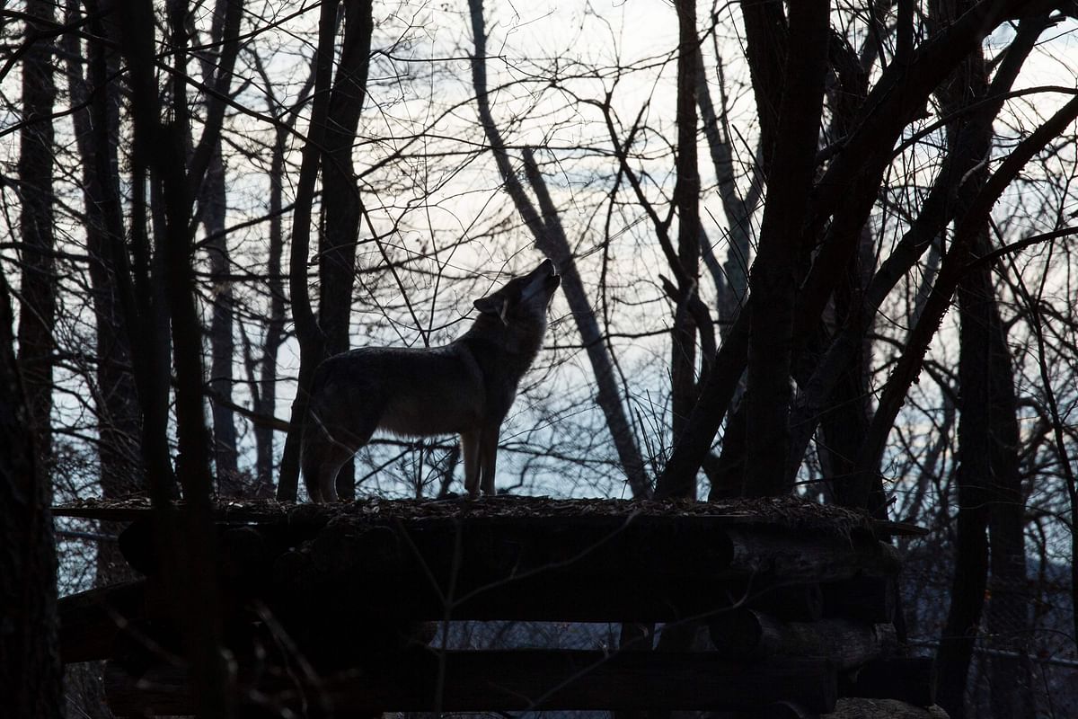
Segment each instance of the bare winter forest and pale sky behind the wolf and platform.
M321 358L547 255L501 489L915 522L940 704L1074 710L1075 3L122 4L0 3L11 497L302 498ZM458 460L381 438L338 492ZM57 526L61 594L114 531Z

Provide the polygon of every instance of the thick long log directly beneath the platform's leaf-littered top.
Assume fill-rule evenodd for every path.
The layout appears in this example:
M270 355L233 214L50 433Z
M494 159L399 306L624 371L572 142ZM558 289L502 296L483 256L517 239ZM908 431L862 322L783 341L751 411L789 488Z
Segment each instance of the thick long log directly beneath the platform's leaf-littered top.
M271 604L342 617L654 622L704 618L754 586L890 573L890 548L865 539L730 529L709 517L528 517L415 524L331 521L275 559ZM599 521L602 520L602 521ZM316 607L316 608L313 608Z

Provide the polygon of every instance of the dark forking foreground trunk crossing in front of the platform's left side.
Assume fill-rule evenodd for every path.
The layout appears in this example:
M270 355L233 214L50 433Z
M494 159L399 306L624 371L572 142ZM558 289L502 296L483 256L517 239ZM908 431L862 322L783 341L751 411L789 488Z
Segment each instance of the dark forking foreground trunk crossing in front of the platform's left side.
M153 277L164 287L172 329L179 443L177 473L183 485L183 508L178 511L157 482L151 482L150 487L157 522L155 537L163 564L162 573L186 650L198 714L227 717L233 708L233 689L222 652L217 578L209 570L216 554L210 517L212 480L203 402L202 327L195 307L193 247L189 231L192 188L202 182L209 166L220 133L223 105L210 102L206 112L206 130L191 154L189 168L185 142L189 123L189 11L183 0L169 3L167 10L168 46L174 59L170 75L172 123L169 125L161 122L161 96L153 74L153 4L127 3L120 14L121 46L132 85L134 158L151 169L151 179L160 195L155 209L163 212L164 220L162 232L156 235ZM230 3L229 12L225 34L231 39L231 47L222 52L215 81L217 89L222 92L227 92L231 82L232 64L238 47L235 37L243 12L241 3Z

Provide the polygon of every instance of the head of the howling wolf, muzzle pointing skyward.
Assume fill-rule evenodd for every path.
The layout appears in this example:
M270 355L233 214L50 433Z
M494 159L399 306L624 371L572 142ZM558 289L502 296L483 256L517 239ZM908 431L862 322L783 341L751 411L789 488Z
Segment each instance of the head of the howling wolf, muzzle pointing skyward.
M511 279L505 287L476 300L473 304L481 313L478 323L489 329L494 329L495 321L500 324L508 334L503 342L510 351L527 351L530 347L525 349L525 346L533 344L538 349L547 327L547 308L561 284L562 276L554 269L554 263L543 260L527 275Z

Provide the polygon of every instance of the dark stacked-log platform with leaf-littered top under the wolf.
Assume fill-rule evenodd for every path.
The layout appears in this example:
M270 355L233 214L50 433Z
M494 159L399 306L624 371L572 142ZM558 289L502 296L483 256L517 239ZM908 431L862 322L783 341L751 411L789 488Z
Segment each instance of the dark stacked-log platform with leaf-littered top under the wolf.
M55 512L130 522L121 549L144 576L61 599L65 661L111 660L118 714L188 710L182 667L162 660L177 641L149 506ZM900 562L881 538L915 531L794 498L221 502L215 516L240 696L295 708L314 693L341 711L828 711L840 687L872 695L851 689L858 670L892 659ZM420 648L423 622L501 619L688 622L709 626L713 646ZM883 693L925 703L930 663L906 666L910 678Z

